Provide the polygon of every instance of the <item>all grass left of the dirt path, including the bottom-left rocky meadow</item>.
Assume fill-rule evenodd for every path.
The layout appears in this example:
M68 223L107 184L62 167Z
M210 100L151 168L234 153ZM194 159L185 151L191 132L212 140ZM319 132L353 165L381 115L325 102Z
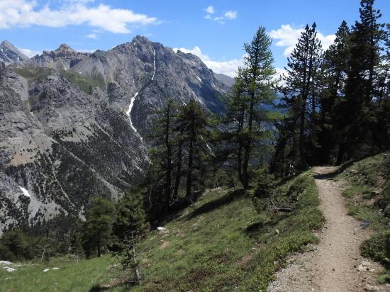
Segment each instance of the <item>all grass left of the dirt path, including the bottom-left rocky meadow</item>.
M140 242L143 283L111 291L265 291L286 256L316 242L312 230L323 223L313 178L302 176L306 190L292 213L258 215L250 197L239 191L206 191L165 225L169 232L152 231ZM281 201L289 184L281 187ZM0 270L1 291L89 291L120 276L118 269L108 269L115 261L109 256L79 263L54 259L13 273ZM43 273L50 266L60 269Z

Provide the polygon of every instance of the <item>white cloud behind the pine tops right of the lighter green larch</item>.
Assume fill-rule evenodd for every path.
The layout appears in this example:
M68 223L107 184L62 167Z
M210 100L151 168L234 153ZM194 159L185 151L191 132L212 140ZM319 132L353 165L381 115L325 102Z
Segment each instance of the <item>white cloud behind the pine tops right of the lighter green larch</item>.
M289 24L283 24L279 29L271 30L269 36L277 40L275 45L278 47L286 47L284 49L284 56L289 57L303 30L303 27L294 28ZM335 40L335 35L323 35L319 31L317 31L317 37L318 40L321 40L324 50L328 49Z

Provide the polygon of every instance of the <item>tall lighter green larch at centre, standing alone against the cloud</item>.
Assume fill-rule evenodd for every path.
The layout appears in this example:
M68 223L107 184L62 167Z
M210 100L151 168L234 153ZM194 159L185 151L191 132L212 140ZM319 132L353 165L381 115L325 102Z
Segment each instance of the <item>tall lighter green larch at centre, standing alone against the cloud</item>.
M238 176L245 189L250 182L250 162L267 138L267 123L274 119L266 107L275 98L271 44L264 27L257 30L251 43L245 43L244 67L238 69L232 94L225 101L228 131L223 135L237 159Z

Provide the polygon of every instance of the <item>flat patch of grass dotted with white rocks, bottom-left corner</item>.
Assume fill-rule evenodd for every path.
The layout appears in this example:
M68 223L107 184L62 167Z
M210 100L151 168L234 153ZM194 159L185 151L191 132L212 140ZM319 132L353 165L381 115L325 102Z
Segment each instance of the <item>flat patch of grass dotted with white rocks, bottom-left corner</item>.
M61 257L50 262L25 262L22 266L11 266L16 271L0 269L0 291L89 291L99 283L109 283L115 258L105 255L101 258L81 260ZM52 270L58 267L58 270ZM44 269L50 269L43 272Z

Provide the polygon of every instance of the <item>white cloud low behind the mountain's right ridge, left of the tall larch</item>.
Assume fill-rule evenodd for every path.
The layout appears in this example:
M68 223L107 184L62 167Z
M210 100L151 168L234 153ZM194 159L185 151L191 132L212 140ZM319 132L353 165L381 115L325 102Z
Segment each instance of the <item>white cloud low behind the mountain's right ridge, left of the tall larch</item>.
M181 50L182 52L185 52L185 53L191 53L191 54L194 54L196 56L198 56L199 58L201 58L201 60L204 62L204 64L206 64L206 66L213 70L213 72L216 72L216 73L222 73L222 74L225 74L225 75L228 75L230 77L235 77L235 72L237 71L238 67L240 66L243 66L244 64L244 56L241 57L240 59L233 59L233 60L228 60L228 61L213 61L210 59L210 57L208 57L208 55L205 55L202 51L201 51L201 48L198 47L198 46L195 46L194 49L186 49L184 47L181 47L181 48L174 48L173 49L175 52L177 52L177 50Z

